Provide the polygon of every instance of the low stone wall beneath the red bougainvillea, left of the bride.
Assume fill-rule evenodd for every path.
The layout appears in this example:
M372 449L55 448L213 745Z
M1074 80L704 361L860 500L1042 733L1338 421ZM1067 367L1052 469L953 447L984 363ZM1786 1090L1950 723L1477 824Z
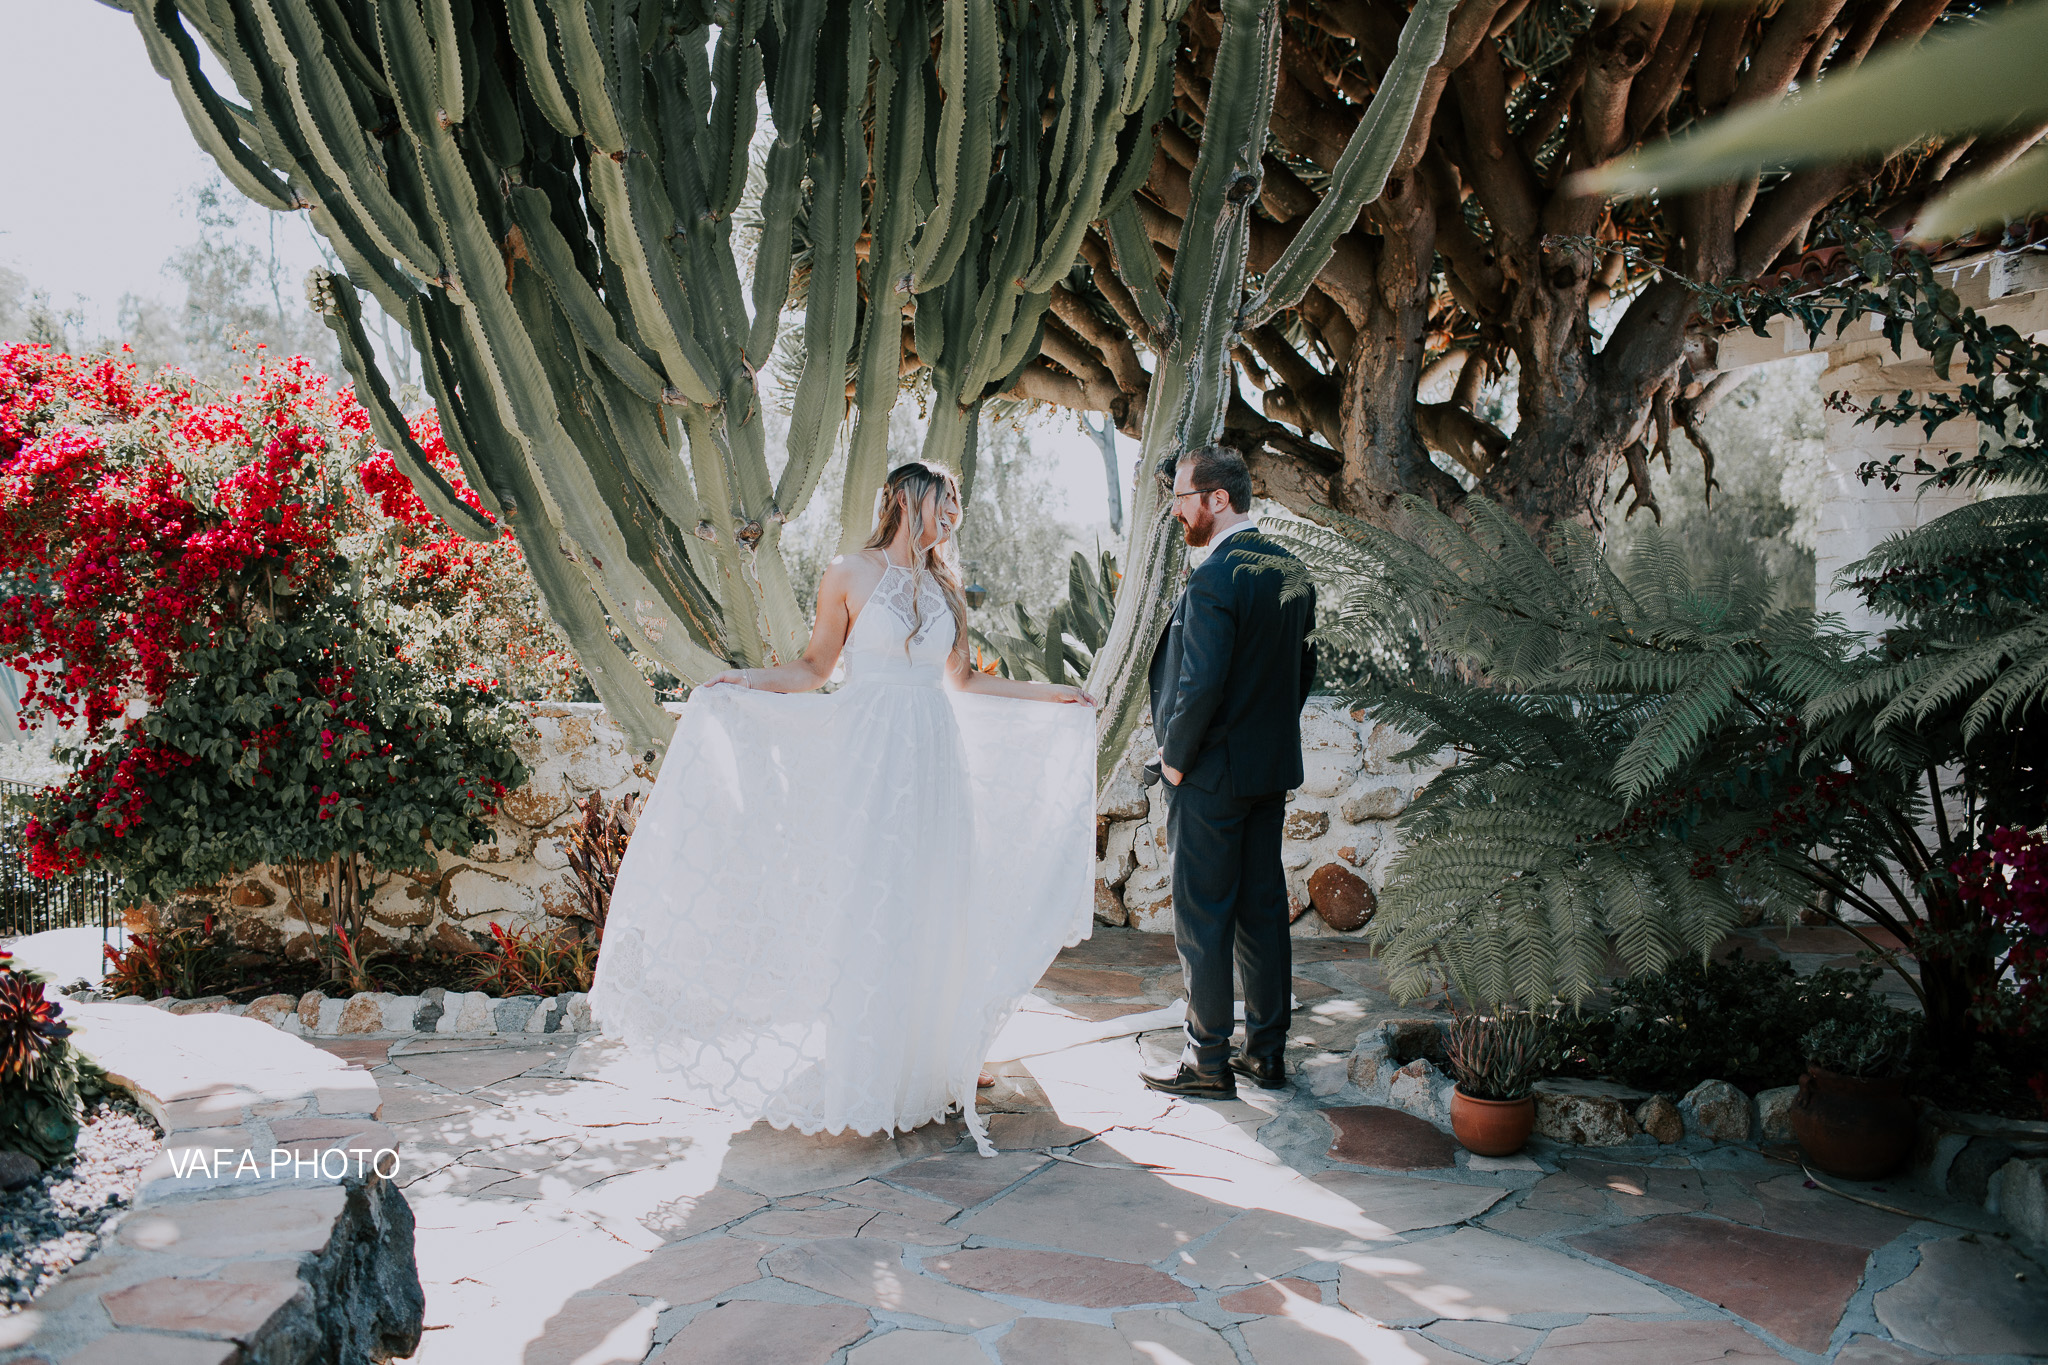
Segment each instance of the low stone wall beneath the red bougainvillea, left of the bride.
M496 839L457 857L444 853L432 878L389 878L369 905L369 931L393 945L469 948L496 921L510 927L561 925L575 905L565 837L582 821L575 802L590 794L616 800L653 790L641 755L594 702L543 702L526 708L530 729L518 743L532 774L492 819ZM295 900L279 868L252 868L221 886L199 888L172 913L211 911L256 950L315 952L326 933L322 886ZM156 927L166 913L129 911L131 929Z

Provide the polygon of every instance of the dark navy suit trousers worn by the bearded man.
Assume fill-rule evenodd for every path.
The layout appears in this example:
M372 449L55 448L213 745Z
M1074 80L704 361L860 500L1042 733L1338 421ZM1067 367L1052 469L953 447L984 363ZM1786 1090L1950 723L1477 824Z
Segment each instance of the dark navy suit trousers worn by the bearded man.
M1286 1050L1294 945L1280 868L1284 817L1286 792L1231 796L1167 786L1174 943L1188 982L1182 1060L1196 1070L1229 1064L1233 960L1245 988L1245 1056L1280 1058Z

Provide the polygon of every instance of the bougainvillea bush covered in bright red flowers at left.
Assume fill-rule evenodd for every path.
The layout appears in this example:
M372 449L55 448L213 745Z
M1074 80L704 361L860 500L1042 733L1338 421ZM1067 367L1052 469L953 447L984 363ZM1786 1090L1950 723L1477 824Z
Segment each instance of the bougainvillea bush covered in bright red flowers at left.
M446 458L432 417L414 426ZM0 348L0 573L23 722L74 743L33 870L102 860L152 902L299 870L344 962L375 874L489 837L524 780L508 694L575 681L512 538L432 522L299 358L215 395Z

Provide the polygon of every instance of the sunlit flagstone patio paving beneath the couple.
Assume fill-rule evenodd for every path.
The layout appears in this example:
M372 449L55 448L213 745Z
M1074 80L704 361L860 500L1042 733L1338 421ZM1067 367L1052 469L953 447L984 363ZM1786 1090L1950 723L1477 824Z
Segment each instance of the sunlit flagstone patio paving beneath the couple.
M1393 1011L1303 943L1296 1066ZM1536 1140L1473 1158L1358 1093L1186 1103L1171 943L1102 931L1047 972L958 1124L805 1138L670 1099L600 1042L324 1044L371 1068L418 1218L416 1361L1323 1365L2017 1361L2048 1267L1980 1209L1821 1187L1753 1148ZM1401 1011L1409 1013L1409 1011ZM1100 1027L1098 1027L1100 1025ZM1020 1042L1022 1040L1022 1042ZM1071 1046L1065 1046L1071 1044ZM1051 1050L1040 1050L1051 1048ZM1335 1154L1335 1158L1333 1158Z

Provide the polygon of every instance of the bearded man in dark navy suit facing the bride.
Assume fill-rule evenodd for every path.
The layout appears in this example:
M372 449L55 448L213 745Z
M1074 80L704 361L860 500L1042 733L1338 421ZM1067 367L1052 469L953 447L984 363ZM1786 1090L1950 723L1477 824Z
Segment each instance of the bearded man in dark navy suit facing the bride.
M1237 1074L1286 1085L1288 941L1280 821L1300 786L1300 708L1315 679L1315 593L1280 600L1280 573L1251 557L1286 551L1251 518L1251 473L1229 446L1202 446L1174 467L1174 518L1208 559L1188 579L1151 661L1159 755L1147 784L1167 782L1174 853L1174 941L1188 982L1180 1066L1145 1072L1167 1095L1229 1099ZM1245 986L1245 1048L1231 1050L1231 960ZM1233 1074L1237 1072L1237 1074Z

